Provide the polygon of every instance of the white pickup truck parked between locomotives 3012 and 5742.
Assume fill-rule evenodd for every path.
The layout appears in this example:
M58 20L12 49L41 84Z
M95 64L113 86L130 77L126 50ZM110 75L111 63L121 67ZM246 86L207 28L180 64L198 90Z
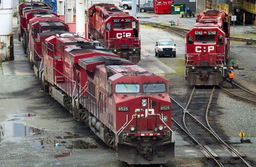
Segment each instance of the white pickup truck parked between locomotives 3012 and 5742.
M172 55L176 57L176 44L172 40L158 40L155 45L155 55L161 57L162 55Z

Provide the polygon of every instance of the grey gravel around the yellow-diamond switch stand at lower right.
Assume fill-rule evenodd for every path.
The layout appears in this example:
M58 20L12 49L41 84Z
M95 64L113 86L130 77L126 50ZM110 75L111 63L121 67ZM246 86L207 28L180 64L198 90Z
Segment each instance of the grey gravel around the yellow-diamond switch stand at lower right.
M248 159L256 161L256 106L240 100L235 100L224 92L220 92L218 96L218 104L222 108L222 115L217 123L224 128L226 136L231 137L231 142L240 142L238 134L241 130L248 137L248 131L252 144L236 145L238 150L244 153Z

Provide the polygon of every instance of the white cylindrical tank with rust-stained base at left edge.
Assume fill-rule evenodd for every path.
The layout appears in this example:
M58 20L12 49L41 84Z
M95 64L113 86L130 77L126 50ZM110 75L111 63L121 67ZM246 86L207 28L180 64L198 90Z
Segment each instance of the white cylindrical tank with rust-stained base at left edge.
M13 3L9 0L0 1L0 60L14 60L13 48Z

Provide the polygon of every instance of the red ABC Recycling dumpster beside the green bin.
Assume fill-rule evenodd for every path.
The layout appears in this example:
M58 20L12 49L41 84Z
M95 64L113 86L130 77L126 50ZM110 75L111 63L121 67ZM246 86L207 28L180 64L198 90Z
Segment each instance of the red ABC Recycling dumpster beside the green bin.
M171 4L174 0L154 0L154 12L157 14L171 13Z

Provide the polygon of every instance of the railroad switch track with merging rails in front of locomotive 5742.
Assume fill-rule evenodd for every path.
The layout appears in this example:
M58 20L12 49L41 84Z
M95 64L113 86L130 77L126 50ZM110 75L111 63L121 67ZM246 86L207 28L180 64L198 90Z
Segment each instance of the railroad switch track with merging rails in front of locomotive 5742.
M243 158L245 156L239 153L235 148L227 144L228 139L220 137L214 129L216 126L210 126L208 121L208 112L213 102L217 99L215 87L206 89L193 88L186 108L170 97L173 104L176 104L172 111L172 121L183 130L193 142L202 150L208 160L209 166L250 166ZM173 110L172 107L172 110ZM179 108L179 113L177 112ZM216 107L215 107L216 108ZM180 117L182 116L182 118ZM188 117L187 117L188 116Z

